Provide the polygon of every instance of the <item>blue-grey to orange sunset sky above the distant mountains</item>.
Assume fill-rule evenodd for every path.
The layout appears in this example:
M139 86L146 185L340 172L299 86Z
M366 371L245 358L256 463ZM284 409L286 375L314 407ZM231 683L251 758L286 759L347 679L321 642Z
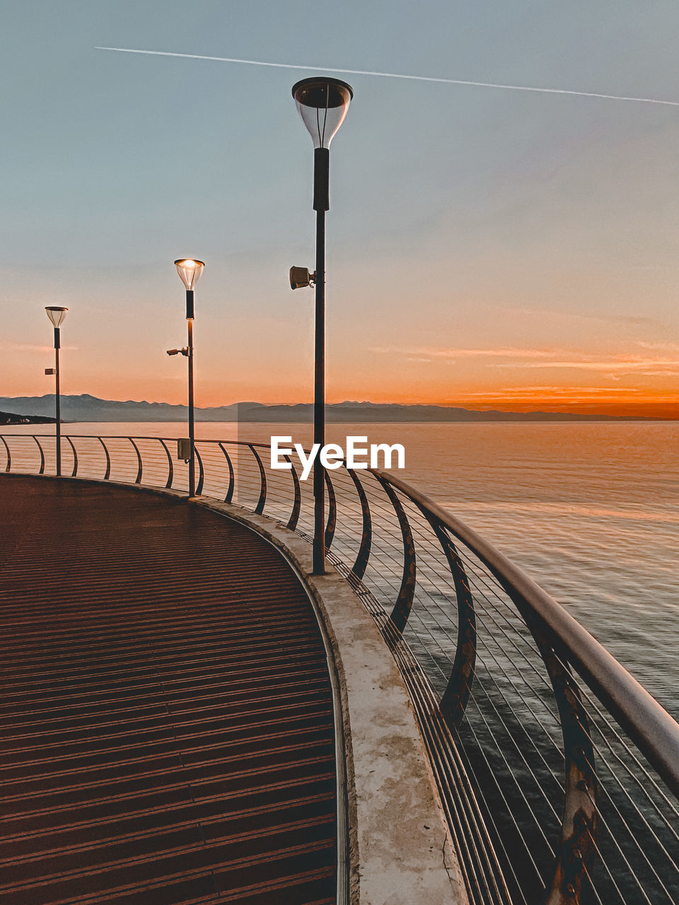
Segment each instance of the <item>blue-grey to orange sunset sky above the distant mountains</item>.
M670 100L674 0L32 0L3 10L0 395L311 401L327 69ZM318 66L97 50L120 47ZM325 68L324 68L325 67ZM339 75L329 402L679 417L679 106Z

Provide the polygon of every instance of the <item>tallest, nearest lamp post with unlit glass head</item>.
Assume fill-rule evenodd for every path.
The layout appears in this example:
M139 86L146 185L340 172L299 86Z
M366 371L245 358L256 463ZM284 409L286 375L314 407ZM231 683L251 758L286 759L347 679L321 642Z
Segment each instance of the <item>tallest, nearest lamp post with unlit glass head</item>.
M292 97L313 139L313 209L316 211L316 272L291 286L316 287L314 326L313 442L325 445L325 212L330 209L330 141L349 110L354 91L346 81L326 76L302 79ZM293 271L299 271L293 268ZM325 469L319 457L313 464L313 574L325 572Z

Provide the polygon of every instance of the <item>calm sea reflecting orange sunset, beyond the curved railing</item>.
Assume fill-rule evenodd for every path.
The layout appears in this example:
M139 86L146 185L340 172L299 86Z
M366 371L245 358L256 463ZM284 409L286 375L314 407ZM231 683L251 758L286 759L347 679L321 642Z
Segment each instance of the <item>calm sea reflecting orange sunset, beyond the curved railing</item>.
M196 428L206 439L311 440L305 424ZM68 431L185 433L177 423ZM329 441L347 434L403 443L406 480L524 567L679 716L679 423L328 426Z

